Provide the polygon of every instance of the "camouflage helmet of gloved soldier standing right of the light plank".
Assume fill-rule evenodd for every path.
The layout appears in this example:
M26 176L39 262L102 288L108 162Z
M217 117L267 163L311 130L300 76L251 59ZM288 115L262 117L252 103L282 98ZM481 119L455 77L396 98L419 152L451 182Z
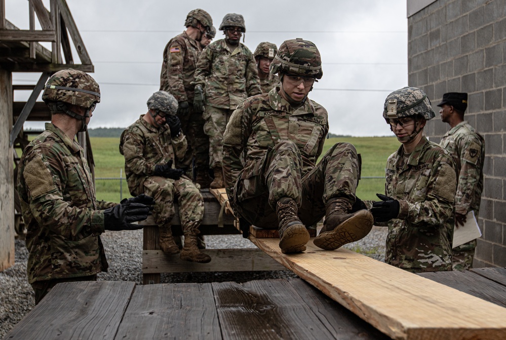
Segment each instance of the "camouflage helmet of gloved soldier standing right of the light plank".
M405 87L392 92L385 99L383 118L397 119L419 115L426 120L436 116L429 97L418 88Z

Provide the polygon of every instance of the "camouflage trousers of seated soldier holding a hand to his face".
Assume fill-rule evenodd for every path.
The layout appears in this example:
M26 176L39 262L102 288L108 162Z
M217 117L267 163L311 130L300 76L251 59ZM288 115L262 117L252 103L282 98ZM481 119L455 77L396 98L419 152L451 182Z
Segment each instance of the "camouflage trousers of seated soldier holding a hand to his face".
M144 193L154 198L153 218L158 226L170 226L176 214L174 199L179 203L179 218L183 232L195 227L204 217L204 199L200 190L187 177L174 181L151 176L144 181ZM186 230L188 229L188 230Z

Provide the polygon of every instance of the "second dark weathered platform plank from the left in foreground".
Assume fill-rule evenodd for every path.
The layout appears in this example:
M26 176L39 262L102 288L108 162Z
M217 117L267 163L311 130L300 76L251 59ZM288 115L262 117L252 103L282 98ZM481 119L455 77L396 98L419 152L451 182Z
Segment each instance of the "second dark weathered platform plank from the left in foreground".
M116 339L221 339L210 283L137 286Z

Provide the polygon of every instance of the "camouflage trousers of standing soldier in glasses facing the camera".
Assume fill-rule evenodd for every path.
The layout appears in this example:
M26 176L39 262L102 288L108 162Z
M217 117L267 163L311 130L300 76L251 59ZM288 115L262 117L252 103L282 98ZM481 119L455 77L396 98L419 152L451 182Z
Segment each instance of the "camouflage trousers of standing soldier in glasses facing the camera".
M222 166L221 140L232 112L233 110L206 105L204 132L209 136L209 163L211 168Z

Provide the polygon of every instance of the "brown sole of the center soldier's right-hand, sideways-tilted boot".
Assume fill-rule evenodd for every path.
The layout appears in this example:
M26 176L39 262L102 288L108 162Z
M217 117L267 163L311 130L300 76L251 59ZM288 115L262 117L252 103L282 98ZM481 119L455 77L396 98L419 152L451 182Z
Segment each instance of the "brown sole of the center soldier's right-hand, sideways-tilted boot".
M372 229L374 218L368 210L361 210L334 230L321 233L313 243L325 250L335 250L344 244L364 238Z

